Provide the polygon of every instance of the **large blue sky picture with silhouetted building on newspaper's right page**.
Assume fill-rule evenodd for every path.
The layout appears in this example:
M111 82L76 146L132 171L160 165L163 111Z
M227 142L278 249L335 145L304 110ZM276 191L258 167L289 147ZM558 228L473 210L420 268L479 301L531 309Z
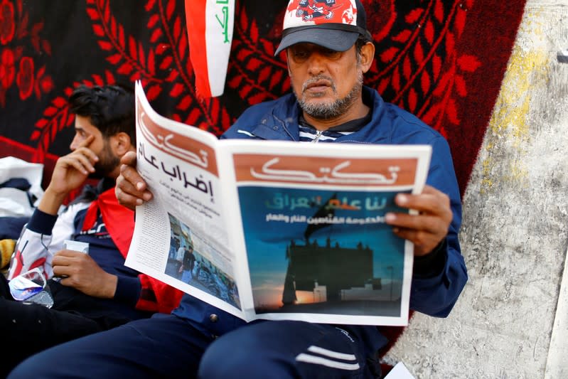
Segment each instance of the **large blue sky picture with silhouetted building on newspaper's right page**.
M404 240L382 223L385 213L401 211L393 203L395 195L240 187L257 311L284 311L283 304L331 304L356 299L357 291L366 291L368 299L400 301ZM294 282L293 292L285 282Z

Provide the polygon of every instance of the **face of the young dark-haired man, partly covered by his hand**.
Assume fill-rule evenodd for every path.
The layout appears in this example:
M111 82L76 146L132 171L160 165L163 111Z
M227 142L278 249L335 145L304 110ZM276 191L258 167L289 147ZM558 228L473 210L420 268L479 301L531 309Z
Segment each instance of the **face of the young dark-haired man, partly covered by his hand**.
M75 115L75 137L71 142L70 149L75 151L79 144L91 135L95 136L95 139L87 148L99 157L99 161L95 163L95 173L92 176L99 178L111 176L111 173L117 170L120 158L112 151L109 138L105 138L100 130L90 123L88 117Z

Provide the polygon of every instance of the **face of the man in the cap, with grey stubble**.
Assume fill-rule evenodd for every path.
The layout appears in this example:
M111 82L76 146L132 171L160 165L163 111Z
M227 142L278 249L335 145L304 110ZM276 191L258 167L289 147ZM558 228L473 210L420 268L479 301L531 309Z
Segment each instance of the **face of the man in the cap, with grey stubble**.
M355 46L342 52L298 43L286 53L291 85L306 114L334 119L349 112L363 86Z

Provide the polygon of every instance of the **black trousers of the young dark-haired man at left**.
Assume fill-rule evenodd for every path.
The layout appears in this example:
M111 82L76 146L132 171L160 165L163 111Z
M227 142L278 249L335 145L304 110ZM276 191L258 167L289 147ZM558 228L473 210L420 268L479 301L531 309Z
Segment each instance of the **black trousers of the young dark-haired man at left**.
M23 304L10 294L8 281L0 274L0 378L28 356L39 351L104 331L129 321L105 317L93 319L79 311L52 309L38 304Z

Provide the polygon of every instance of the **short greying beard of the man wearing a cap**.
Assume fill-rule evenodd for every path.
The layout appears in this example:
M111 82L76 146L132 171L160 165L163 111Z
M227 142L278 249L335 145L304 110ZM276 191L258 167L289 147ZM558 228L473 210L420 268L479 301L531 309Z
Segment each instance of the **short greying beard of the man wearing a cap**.
M331 78L326 75L318 75L314 78L306 80L301 88L301 93L304 93L308 85L318 80L328 80L331 83L331 90L337 95L336 84ZM312 103L308 102L304 97L300 97L294 90L296 100L300 105L301 110L314 117L314 119L334 119L341 116L349 110L350 107L358 100L361 90L363 88L363 73L359 72L357 82L345 97L332 100L329 102Z

